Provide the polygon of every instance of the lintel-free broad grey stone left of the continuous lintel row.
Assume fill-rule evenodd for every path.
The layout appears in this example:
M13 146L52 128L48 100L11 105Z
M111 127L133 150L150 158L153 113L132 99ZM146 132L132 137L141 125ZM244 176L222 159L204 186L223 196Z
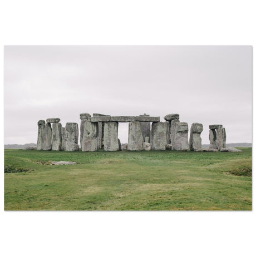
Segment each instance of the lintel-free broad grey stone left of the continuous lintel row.
M67 122L65 128L65 151L78 151L78 124L76 122Z

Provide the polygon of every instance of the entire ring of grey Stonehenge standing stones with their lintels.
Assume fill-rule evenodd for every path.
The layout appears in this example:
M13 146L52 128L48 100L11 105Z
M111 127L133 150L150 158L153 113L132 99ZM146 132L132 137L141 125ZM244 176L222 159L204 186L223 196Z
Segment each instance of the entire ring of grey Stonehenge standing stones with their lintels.
M197 122L190 128L188 123L179 121L179 114L168 114L165 122L150 115L110 116L88 113L80 114L80 145L82 151L119 151L119 122L129 122L128 143L125 150L176 150L176 151L228 151L225 149L226 132L222 125L210 125L209 149L202 149L201 132L203 125ZM37 150L78 151L78 124L67 122L62 127L59 118L39 120ZM230 150L229 150L230 151Z

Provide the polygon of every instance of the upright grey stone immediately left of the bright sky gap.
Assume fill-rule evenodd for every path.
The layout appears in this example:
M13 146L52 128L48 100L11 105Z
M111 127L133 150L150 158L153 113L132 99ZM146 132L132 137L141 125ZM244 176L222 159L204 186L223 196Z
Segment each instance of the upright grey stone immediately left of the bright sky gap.
M119 151L117 136L118 122L106 122L104 124L104 151Z

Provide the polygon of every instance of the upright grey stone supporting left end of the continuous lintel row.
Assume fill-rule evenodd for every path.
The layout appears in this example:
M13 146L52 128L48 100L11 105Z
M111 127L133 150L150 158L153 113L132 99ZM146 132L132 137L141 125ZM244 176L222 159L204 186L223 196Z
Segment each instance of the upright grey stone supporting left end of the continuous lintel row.
M82 140L82 151L97 151L99 149L98 145L98 123L85 121L83 125L83 140Z

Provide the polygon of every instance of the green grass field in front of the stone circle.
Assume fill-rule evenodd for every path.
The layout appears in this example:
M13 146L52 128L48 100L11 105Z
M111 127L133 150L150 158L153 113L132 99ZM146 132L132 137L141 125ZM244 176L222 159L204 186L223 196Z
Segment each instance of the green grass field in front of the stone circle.
M5 210L252 210L243 152L5 150ZM48 161L76 161L53 166Z

